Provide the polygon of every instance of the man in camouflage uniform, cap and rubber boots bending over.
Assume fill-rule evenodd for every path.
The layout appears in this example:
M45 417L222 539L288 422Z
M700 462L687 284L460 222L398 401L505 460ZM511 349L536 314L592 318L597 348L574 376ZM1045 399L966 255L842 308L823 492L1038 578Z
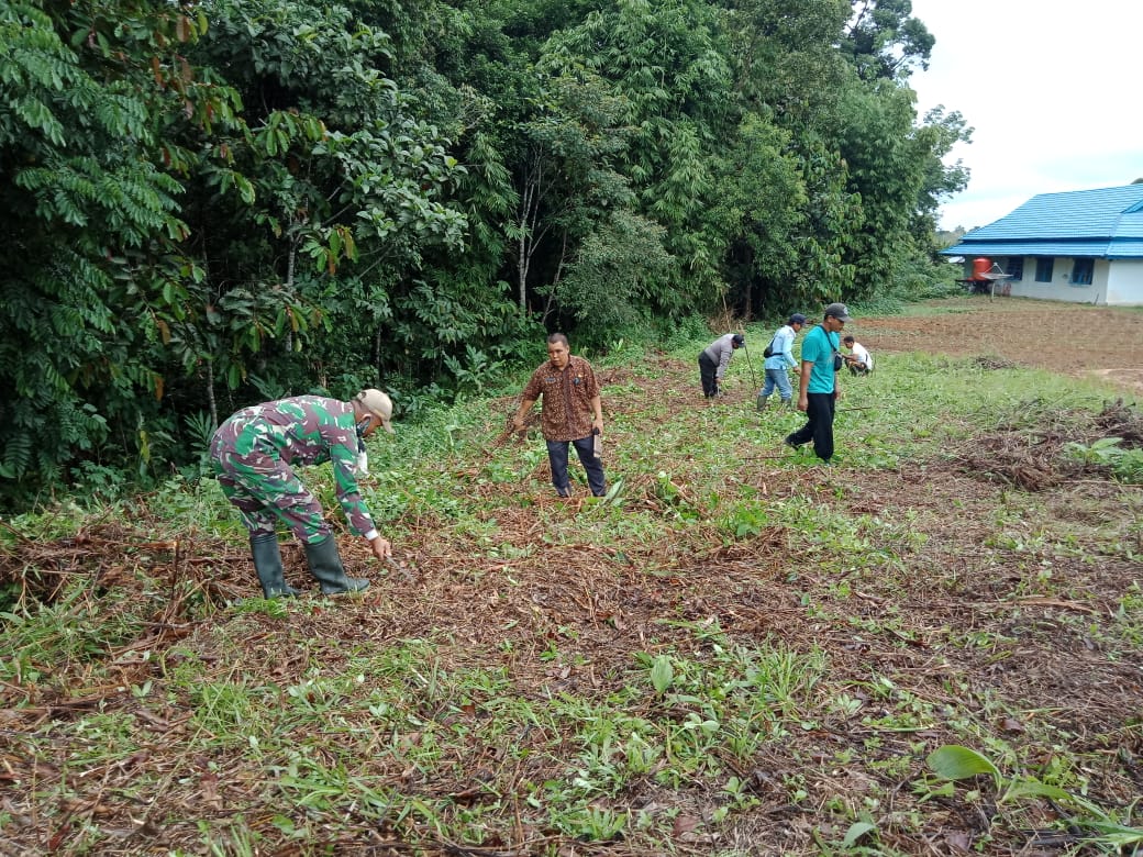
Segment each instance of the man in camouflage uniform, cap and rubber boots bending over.
M392 432L392 402L379 390L363 390L349 402L297 395L243 408L215 432L210 443L215 474L250 531L254 568L266 598L298 594L283 578L279 522L302 542L310 572L323 593L357 592L369 585L346 576L321 506L293 464L333 462L337 499L350 527L365 536L377 559L391 555L358 489L357 473L365 438L377 426Z

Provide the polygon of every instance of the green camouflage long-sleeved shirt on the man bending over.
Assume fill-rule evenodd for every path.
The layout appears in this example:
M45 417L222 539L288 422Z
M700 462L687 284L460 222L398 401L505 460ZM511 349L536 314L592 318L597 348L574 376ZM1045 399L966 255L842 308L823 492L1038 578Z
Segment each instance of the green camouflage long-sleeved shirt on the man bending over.
M267 456L286 464L334 463L337 502L361 536L373 516L357 482L358 438L353 406L337 399L296 395L243 408L215 433L215 457Z

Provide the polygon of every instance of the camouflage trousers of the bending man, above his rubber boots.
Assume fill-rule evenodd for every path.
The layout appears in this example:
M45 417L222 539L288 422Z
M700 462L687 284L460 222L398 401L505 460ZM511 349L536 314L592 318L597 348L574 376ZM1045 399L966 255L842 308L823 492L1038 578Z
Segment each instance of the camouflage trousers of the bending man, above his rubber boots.
M257 449L239 454L218 441L210 450L215 475L250 535L274 532L281 521L307 544L329 536L321 505L288 464Z

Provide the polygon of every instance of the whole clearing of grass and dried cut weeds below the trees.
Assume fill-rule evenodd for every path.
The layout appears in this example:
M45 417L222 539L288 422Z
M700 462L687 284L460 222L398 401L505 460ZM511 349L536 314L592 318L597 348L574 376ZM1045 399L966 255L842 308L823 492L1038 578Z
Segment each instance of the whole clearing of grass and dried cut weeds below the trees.
M213 480L0 522L0 854L1134 852L1143 354L1046 330L1143 313L997 304L850 325L830 467L762 329L710 405L705 342L596 362L604 500L511 395L399 426L397 567L304 474L362 595L257 598Z

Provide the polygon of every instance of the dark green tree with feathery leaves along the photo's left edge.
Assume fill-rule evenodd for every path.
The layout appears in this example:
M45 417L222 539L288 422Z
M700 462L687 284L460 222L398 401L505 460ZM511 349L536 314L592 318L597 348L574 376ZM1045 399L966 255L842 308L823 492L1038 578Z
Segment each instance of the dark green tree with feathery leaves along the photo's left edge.
M77 458L145 467L155 358L195 266L181 248L184 129L209 136L235 98L187 62L191 7L0 7L0 466L33 491Z

